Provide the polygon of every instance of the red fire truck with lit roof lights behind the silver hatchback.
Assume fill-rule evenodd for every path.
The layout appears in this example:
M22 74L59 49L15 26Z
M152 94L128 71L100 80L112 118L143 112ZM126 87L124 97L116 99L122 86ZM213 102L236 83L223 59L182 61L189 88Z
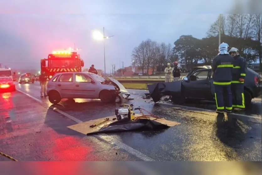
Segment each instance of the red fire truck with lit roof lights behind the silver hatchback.
M77 52L53 51L47 59L41 59L41 72L51 79L58 72L82 72L84 61Z

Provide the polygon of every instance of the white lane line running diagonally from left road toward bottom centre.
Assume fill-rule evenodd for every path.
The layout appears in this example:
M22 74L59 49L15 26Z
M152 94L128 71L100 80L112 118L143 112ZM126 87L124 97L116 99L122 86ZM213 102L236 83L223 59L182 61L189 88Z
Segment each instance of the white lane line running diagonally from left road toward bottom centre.
M17 90L18 90L18 89L17 89ZM22 91L22 90L18 90L18 91L21 92L21 93L23 93L23 94L26 95L26 96L29 96L30 98L34 99L35 101L38 101L38 102L40 102L40 103L43 104L43 101L41 101L40 99L35 98L34 96L31 96L31 95L25 93L25 92ZM70 118L71 120L73 120L73 121L75 121L75 122L77 122L77 123L83 123L83 121L81 121L81 120L79 120L79 119L77 119L77 118L75 118L75 117L67 114L66 112L63 112L63 111L61 111L61 110L59 110L59 109L57 109L57 108L55 108L55 107L52 107L52 108L53 108L55 111L61 113L62 115ZM103 137L103 136L106 136L106 137ZM110 143L111 145L116 145L116 146L118 146L119 148L121 148L121 149L123 149L123 150L126 150L126 151L129 152L130 154L132 154L132 155L134 155L134 156L142 159L143 161L155 161L154 159L152 159L152 158L144 155L143 153L139 152L138 150L135 150L135 149L131 148L130 146L128 146L128 145L126 145L126 144L124 144L124 143L122 143L122 142L120 142L120 141L113 141L113 142L112 142L112 140L108 138L108 137L110 137L110 136L107 135L107 134L103 134L103 135L99 134L97 137L99 137L100 139L104 140L104 141L107 142L107 143Z

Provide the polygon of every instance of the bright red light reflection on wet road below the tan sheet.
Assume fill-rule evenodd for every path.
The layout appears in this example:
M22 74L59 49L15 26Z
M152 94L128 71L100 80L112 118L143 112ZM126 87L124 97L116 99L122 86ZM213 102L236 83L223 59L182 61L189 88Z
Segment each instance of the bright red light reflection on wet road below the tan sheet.
M70 136L57 138L53 151L57 161L86 161L87 156L92 156L91 146L85 146L80 139Z

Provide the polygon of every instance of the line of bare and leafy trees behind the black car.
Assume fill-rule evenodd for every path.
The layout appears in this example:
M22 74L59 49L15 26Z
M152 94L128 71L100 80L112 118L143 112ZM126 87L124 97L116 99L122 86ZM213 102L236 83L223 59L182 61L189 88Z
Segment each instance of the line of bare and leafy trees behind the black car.
M221 15L221 42L229 47L238 48L240 55L247 63L253 63L259 58L262 68L262 14L228 14ZM202 39L191 35L182 35L170 43L157 43L147 39L135 47L131 53L133 66L138 66L143 72L150 67L162 68L162 65L180 61L184 64L211 63L218 54L219 17L206 32Z

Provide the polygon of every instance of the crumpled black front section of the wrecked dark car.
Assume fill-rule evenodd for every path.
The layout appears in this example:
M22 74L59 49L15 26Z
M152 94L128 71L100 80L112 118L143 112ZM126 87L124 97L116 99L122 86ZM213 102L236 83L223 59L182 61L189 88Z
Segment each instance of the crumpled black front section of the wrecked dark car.
M153 101L158 102L162 96L180 96L181 94L181 82L173 81L169 83L156 83L147 85L150 96Z

